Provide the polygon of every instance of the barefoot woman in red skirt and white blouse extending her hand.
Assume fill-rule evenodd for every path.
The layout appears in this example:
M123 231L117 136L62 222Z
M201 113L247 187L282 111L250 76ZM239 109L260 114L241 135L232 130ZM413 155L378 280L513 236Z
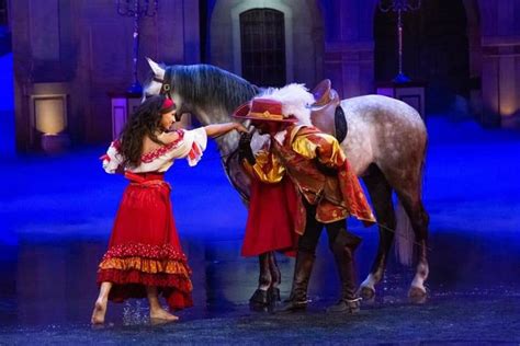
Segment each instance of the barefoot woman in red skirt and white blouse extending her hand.
M168 131L176 122L174 103L162 95L146 100L126 123L120 140L102 157L108 173L123 173L129 181L115 217L109 250L98 270L100 293L92 324L102 324L108 300L148 298L150 320L171 322L171 311L193 304L190 267L182 252L170 203L170 185L163 174L174 159L195 165L207 136L231 130L247 132L238 123L215 124L193 130Z

